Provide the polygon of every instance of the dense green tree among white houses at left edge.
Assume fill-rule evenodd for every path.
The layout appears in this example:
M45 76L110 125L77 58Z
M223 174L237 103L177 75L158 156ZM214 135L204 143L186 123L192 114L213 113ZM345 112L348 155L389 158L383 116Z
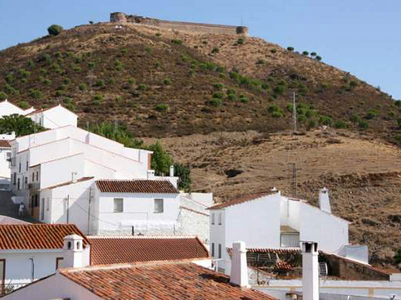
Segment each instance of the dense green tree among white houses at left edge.
M0 118L0 133L15 132L17 136L32 134L45 130L44 127L35 123L29 117L21 114L5 115Z

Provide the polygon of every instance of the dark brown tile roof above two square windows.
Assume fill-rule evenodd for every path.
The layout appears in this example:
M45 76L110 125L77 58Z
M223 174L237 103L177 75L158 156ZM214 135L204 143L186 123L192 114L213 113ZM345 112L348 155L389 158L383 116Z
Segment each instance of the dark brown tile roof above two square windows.
M96 180L101 192L178 193L168 180Z

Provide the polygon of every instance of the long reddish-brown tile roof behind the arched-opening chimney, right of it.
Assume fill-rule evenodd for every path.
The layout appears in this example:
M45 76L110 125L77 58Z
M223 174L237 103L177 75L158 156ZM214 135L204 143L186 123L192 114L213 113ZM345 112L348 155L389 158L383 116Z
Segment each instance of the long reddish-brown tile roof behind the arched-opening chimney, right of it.
M91 264L208 258L197 237L89 236Z

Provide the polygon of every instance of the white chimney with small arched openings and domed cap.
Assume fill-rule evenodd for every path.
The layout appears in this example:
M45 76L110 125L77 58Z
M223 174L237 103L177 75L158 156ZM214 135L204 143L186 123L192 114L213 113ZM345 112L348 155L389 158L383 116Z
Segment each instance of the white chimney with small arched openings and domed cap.
M63 267L83 266L83 238L78 234L64 236Z

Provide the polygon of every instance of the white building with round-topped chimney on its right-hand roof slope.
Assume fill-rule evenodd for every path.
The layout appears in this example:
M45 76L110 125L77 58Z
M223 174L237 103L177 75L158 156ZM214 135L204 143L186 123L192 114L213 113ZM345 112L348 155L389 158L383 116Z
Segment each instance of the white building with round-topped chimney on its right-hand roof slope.
M320 194L324 205L326 194L327 190ZM222 259L219 268L226 273L231 263L226 248L236 240L250 248L299 247L300 240L314 240L328 253L348 244L347 220L279 191L241 197L209 210L211 253Z

